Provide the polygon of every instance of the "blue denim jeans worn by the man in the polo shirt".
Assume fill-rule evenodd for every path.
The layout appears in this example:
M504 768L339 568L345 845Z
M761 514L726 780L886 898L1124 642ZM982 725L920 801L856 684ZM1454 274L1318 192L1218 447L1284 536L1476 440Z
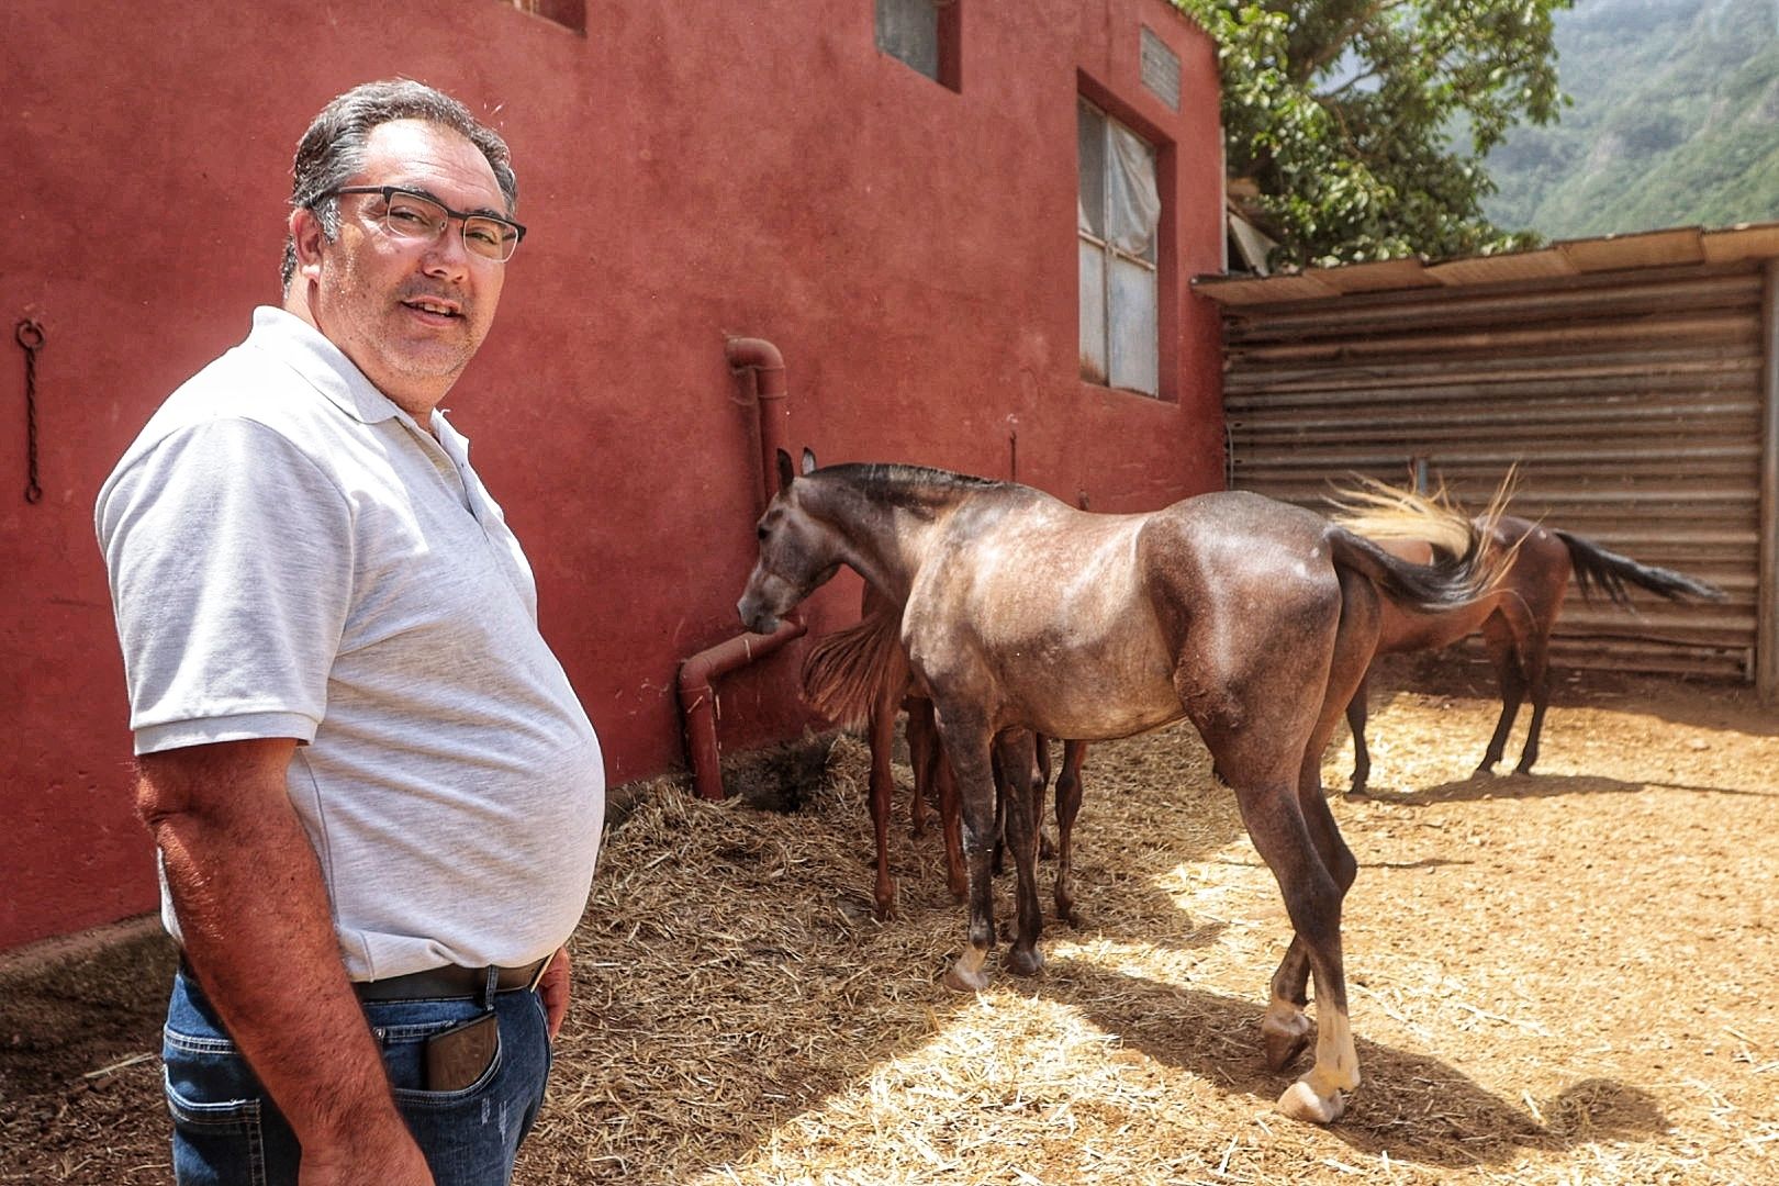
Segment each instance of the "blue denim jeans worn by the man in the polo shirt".
M535 992L500 992L500 1047L461 1092L422 1090L427 1035L480 1014L473 999L366 1001L395 1104L438 1186L505 1186L550 1074L550 1030ZM295 1186L302 1150L240 1056L197 982L173 982L162 1060L180 1186Z

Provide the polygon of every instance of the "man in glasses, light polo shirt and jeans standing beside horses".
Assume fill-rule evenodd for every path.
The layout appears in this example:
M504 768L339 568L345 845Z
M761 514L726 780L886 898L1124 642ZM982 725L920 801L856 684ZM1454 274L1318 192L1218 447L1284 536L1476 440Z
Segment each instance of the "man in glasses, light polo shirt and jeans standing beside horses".
M505 142L366 84L295 156L283 308L98 498L192 1182L507 1182L568 1008L600 745L438 411L523 236Z

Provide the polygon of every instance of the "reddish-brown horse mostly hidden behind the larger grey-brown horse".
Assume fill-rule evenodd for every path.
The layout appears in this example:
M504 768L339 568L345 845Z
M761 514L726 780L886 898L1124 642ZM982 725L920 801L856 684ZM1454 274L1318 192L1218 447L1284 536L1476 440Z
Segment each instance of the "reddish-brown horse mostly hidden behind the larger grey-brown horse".
M831 722L843 727L865 727L870 749L870 788L866 802L872 813L872 832L877 841L877 878L872 887L873 912L879 921L895 912L895 878L890 875L890 802L895 775L890 772L890 752L895 741L895 717L907 711L909 765L914 768L913 802L909 816L914 836L927 830L927 798L936 795L945 836L945 873L952 894L968 893L964 871L961 820L952 768L938 738L932 701L914 688L907 653L900 642L900 612L873 587L865 587L865 605L859 622L822 637L809 649L802 665L804 701ZM1034 734L1039 779L1050 782L1050 743ZM1057 918L1071 926L1080 925L1071 893L1071 855L1075 818L1082 809L1082 763L1087 757L1085 741L1066 741L1062 772L1057 775ZM998 766L998 763L996 763ZM996 804L1005 802L1007 782L996 768Z

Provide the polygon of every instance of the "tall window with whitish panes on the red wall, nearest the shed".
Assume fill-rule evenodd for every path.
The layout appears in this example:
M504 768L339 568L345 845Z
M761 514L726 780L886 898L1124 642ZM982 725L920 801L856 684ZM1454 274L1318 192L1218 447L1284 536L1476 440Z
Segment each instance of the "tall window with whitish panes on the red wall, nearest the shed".
M1082 379L1160 395L1155 146L1080 101Z

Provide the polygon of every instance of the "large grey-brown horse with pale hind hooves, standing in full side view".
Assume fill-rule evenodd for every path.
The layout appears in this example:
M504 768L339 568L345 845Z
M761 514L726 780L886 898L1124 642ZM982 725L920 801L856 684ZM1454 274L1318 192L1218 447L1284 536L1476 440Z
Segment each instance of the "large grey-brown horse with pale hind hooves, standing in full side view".
M1023 734L1121 738L1188 717L1292 919L1261 1021L1276 1069L1308 1042L1304 985L1315 976L1315 1067L1279 1110L1340 1117L1359 1085L1340 942L1357 864L1322 795L1322 749L1377 645L1381 603L1466 605L1491 576L1480 546L1423 567L1260 494L1091 514L1025 485L939 469L817 469L808 450L802 477L779 453L779 478L737 610L749 629L772 631L841 564L902 606L902 645L932 699L968 848L968 946L946 983L987 983L991 754L1014 788L1018 932L1007 966L1032 974L1042 966L1037 804L1025 791L1035 773Z

